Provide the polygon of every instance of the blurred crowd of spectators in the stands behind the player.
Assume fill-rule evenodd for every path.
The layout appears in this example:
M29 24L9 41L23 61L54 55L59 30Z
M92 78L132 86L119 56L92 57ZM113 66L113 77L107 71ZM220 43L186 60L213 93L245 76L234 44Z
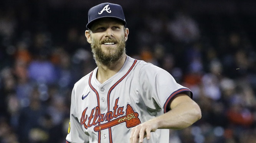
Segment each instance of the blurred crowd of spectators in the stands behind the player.
M84 36L90 6L58 3L1 2L0 143L65 142L73 85L96 64ZM142 8L124 7L127 54L170 72L202 110L170 130L170 143L256 143L255 15Z

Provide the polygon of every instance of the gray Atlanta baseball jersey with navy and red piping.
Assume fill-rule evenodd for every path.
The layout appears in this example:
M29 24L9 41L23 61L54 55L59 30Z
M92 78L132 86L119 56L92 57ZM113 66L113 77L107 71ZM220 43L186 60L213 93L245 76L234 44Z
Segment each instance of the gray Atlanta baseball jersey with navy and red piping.
M168 111L180 92L192 93L164 69L127 56L117 74L101 84L97 68L74 85L66 143L129 143L132 127ZM169 130L143 143L168 143Z

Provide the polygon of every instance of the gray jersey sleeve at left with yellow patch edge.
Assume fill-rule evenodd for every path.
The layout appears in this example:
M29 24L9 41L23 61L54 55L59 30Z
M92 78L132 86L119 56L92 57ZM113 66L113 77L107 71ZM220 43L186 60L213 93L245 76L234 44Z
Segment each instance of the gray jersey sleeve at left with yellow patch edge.
M83 132L83 128L78 121L76 114L75 90L71 94L70 121L66 143L89 143L89 135Z

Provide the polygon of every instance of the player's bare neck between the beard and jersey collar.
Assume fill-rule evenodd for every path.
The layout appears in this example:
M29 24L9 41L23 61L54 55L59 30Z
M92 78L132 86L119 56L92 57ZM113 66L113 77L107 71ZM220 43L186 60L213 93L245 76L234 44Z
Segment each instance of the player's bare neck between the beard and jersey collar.
M98 71L96 78L97 80L103 84L106 80L108 80L110 77L114 76L124 65L124 62L126 61L126 54L122 55L122 57L116 61L116 63L112 63L110 65L103 65L100 63L97 63Z

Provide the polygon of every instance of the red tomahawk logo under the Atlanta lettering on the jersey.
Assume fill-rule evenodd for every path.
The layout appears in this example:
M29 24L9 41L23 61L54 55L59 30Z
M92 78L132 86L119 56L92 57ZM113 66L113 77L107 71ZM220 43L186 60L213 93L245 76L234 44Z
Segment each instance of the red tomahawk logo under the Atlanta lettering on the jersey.
M125 116L119 117L105 124L97 125L96 127L94 127L94 131L99 132L101 130L108 129L115 125L121 124L122 122L126 122L127 128L134 127L140 124L140 119L138 118L138 116L139 114L134 112L132 107L129 104L127 104Z

